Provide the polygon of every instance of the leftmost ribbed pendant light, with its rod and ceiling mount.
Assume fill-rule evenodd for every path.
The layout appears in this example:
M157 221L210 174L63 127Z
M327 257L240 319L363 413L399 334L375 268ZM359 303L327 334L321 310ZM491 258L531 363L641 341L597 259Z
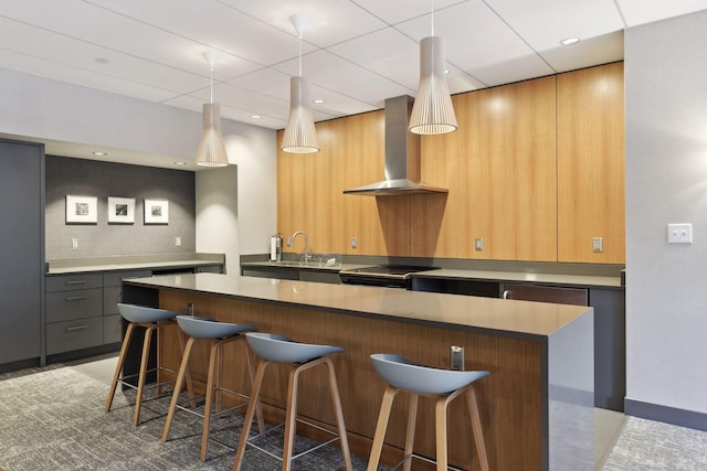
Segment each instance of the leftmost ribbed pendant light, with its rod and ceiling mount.
M203 129L199 150L197 150L197 165L225 167L229 164L229 156L225 153L221 135L221 106L213 103L213 66L217 62L217 55L211 51L203 55L209 63L211 94L209 103L203 104Z

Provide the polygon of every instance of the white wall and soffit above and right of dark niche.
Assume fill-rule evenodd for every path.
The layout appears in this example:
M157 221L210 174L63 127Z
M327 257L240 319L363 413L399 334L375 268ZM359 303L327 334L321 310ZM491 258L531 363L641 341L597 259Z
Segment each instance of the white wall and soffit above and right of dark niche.
M4 68L0 83L2 133L181 159L193 159L199 146L200 113ZM221 125L238 170L197 172L197 250L228 253L231 265L240 254L267 253L276 229L275 131L228 119Z

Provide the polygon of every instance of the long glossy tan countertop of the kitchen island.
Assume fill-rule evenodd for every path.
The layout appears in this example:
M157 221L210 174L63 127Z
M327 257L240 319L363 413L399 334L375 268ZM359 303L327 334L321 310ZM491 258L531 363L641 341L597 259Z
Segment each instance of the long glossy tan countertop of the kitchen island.
M124 282L526 339L547 338L592 309L219 274L166 275Z

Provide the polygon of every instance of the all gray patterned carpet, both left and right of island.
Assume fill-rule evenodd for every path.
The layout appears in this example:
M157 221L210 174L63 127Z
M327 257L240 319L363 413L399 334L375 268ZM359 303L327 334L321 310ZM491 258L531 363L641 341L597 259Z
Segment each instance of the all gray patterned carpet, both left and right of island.
M98 372L52 365L0 374L0 468L43 470L230 470L242 415L214 420L209 457L199 461L201 418L177 413L170 439L160 440L169 397L148 402L141 424L131 425L133 390L116 394L104 413L108 385ZM598 409L601 410L601 409ZM623 417L623 416L621 416ZM610 428L614 430L614 427ZM613 433L613 431L612 431ZM270 437L273 445L282 436ZM298 438L299 448L309 441ZM278 469L279 463L250 450L244 470ZM338 450L325 448L294 469L344 469ZM357 470L366 461L355 458ZM707 432L626 417L599 469L603 471L707 470Z

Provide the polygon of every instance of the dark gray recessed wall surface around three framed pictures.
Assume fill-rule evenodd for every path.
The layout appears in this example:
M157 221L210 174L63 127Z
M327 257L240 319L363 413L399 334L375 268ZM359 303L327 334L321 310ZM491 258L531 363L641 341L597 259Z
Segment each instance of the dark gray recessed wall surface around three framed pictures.
M193 253L194 189L190 171L46 156L46 258ZM66 224L67 194L96 196L97 224ZM134 224L108 224L108 196L135 199ZM168 224L144 223L145 199L169 201Z

